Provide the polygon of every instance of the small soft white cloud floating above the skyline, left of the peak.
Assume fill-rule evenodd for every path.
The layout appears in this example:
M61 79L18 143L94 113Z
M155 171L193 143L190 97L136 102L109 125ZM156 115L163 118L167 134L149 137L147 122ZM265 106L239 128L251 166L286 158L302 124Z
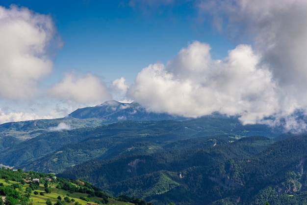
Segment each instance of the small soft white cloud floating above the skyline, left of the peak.
M76 71L64 73L64 78L48 92L72 104L100 104L111 99L108 89L98 76Z

